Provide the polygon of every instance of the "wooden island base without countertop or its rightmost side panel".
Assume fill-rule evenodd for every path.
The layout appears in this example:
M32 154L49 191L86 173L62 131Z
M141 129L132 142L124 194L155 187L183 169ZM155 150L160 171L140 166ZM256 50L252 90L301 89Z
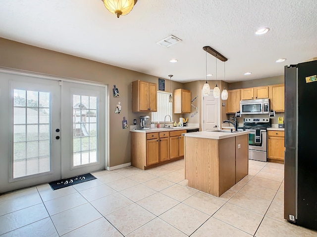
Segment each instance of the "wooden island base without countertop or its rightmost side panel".
M188 186L216 197L235 185L235 137L221 140L185 137Z

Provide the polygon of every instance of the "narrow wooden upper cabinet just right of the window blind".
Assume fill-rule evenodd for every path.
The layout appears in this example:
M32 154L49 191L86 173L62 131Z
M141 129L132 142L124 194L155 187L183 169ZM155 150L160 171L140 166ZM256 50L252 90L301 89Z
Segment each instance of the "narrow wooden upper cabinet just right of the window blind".
M190 90L174 90L174 114L186 114L191 112L191 92Z

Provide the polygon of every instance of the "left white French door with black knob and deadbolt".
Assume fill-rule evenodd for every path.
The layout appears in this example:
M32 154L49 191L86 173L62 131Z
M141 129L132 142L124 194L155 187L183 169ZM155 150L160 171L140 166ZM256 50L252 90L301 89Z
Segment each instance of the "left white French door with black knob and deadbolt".
M0 81L0 193L58 180L58 81L5 72Z

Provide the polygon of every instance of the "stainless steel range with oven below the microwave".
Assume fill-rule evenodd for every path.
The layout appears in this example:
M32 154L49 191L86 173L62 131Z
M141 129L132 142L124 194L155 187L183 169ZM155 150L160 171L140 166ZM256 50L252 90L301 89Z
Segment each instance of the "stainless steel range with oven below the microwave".
M244 118L243 127L238 131L249 133L249 159L266 161L266 128L271 127L270 118Z

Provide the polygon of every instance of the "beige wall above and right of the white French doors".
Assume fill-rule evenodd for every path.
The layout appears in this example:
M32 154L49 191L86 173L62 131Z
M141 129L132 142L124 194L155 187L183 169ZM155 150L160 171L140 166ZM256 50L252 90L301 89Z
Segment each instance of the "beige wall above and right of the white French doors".
M108 84L110 98L108 166L130 162L130 132L129 129L122 129L122 119L125 117L130 125L133 124L133 119L139 121L141 115L151 116L151 113L132 113L131 82L139 79L158 84L158 77L3 38L0 38L0 67ZM165 91L169 91L169 78L167 76L166 78ZM120 97L113 97L113 84L119 89ZM182 86L182 83L172 81L171 90L182 88ZM118 101L122 106L119 115L114 113Z

